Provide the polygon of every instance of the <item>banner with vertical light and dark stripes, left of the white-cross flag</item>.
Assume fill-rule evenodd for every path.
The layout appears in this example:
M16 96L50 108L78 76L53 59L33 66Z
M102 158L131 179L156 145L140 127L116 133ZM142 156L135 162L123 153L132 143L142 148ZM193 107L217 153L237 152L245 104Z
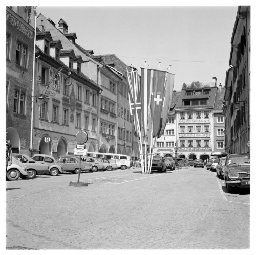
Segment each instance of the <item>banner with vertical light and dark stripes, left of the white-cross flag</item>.
M144 134L147 133L148 112L150 110L151 69L141 68L141 115Z

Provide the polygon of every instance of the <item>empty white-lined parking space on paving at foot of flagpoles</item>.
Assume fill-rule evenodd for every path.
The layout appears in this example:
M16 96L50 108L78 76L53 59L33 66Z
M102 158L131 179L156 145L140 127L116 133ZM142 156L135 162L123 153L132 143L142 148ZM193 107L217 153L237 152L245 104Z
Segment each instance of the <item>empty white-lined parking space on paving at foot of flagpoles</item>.
M141 179L146 179L146 178L156 177L158 175L161 175L161 174L154 174L154 175L151 174L150 176L142 176L140 178L134 179L133 176L127 176L127 175L131 175L131 174L105 176L105 177L87 179L87 180L82 180L82 181L92 181L93 183L123 184L123 183L131 182L131 181L135 181L135 180L141 180Z

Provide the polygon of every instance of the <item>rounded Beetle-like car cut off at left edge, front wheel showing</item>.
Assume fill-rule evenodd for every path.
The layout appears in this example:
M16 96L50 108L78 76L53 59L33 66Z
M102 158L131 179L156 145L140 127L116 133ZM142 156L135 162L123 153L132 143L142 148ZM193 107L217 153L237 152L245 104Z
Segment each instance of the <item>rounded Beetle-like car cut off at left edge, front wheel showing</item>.
M20 178L27 178L28 172L26 166L15 157L12 157L12 164L7 167L6 178L8 180L17 180Z

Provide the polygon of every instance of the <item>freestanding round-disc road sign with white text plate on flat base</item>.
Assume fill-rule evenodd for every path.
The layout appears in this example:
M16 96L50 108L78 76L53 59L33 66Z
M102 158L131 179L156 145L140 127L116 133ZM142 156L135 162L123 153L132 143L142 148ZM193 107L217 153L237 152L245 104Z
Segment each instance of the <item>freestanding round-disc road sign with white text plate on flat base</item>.
M80 169L81 169L81 155L86 155L87 149L85 148L86 146L84 145L88 140L88 134L86 131L78 131L76 133L76 148L74 149L74 154L79 155L80 160L79 160L79 171L78 171L78 180L77 182L72 182L70 181L69 185L70 186L87 186L87 183L79 182L80 181Z

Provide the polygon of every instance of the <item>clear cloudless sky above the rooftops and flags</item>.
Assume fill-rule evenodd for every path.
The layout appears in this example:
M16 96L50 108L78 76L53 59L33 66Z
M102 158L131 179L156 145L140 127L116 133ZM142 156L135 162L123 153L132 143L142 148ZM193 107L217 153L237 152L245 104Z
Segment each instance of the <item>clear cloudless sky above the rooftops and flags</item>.
M238 6L73 6L40 7L60 18L76 42L94 55L115 54L127 65L166 70L172 65L174 89L183 82L225 84L230 41Z

